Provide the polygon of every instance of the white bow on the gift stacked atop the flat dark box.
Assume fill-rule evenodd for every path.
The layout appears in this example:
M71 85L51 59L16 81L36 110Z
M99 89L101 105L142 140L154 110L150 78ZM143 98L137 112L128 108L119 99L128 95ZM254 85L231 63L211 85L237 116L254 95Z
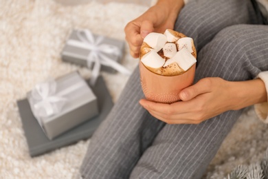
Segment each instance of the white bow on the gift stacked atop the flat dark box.
M56 81L54 80L38 83L32 89L31 96L33 112L38 117L49 117L58 114L67 101L67 98L56 94Z

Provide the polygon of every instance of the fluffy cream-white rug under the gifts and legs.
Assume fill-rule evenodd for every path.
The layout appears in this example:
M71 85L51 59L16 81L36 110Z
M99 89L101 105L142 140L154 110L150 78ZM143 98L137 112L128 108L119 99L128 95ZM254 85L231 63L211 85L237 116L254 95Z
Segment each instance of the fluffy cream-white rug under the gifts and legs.
M0 178L74 178L89 140L31 158L19 118L16 100L25 98L38 81L78 70L89 78L90 70L63 63L60 52L74 28L88 28L124 40L126 23L148 7L134 3L83 3L63 6L52 0L0 0ZM133 70L128 48L123 65ZM129 76L102 72L118 100ZM249 109L227 136L203 178L223 178L238 164L262 158L268 146L267 125Z

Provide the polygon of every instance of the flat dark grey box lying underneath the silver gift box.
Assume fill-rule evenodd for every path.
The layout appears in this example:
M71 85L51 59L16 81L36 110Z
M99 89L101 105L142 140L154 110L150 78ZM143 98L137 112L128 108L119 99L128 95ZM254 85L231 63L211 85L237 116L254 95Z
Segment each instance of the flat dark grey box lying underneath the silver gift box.
M98 98L100 114L66 131L53 140L47 138L38 121L34 118L27 99L17 101L30 156L34 157L45 154L54 149L77 143L78 140L87 139L92 136L102 120L111 111L113 101L102 76L98 77L96 85L91 86L91 89Z

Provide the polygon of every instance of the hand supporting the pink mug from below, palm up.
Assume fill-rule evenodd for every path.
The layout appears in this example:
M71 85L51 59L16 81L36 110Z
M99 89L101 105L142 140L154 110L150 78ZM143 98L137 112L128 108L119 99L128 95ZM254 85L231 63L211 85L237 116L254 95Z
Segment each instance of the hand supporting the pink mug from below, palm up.
M179 94L181 101L162 104L142 99L139 103L155 118L168 124L199 124L228 110L267 101L263 81L230 82L203 78Z

